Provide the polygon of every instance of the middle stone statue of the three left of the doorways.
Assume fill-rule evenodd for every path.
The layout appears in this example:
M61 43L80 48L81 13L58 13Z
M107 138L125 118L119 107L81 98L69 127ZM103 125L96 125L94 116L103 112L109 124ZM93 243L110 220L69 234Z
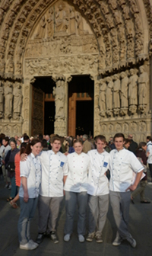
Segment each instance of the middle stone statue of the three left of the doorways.
M11 118L13 100L13 88L11 82L6 82L5 85L5 117Z

